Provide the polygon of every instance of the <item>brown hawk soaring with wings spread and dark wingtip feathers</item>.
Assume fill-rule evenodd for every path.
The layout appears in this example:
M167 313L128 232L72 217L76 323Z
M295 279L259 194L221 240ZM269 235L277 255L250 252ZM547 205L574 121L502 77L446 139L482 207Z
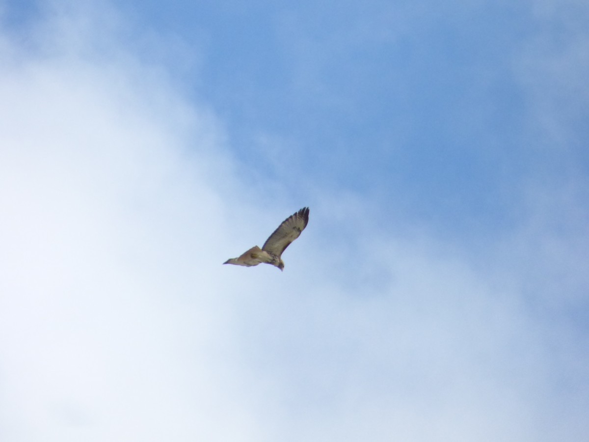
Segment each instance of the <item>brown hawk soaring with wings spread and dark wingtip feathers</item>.
M297 213L285 219L270 238L266 240L262 249L254 246L239 258L227 259L223 264L235 264L238 266L257 266L260 262L272 264L281 271L284 269L284 262L280 259L282 252L295 239L299 238L300 232L305 229L309 222L309 207L303 207Z

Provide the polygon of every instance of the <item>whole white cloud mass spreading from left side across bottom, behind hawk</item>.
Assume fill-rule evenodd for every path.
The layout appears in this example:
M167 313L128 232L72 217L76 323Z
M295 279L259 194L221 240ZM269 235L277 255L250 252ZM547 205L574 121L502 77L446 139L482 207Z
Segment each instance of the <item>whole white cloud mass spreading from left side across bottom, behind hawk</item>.
M587 355L527 304L531 240L523 278L512 239L481 270L319 190L284 273L221 266L298 207L260 217L219 121L60 17L2 54L2 440L581 440Z

